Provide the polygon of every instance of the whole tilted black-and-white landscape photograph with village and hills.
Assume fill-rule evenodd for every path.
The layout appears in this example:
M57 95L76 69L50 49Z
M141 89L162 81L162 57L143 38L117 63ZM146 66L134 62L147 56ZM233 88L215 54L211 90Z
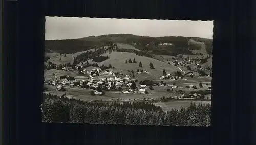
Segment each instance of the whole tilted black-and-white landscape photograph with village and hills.
M46 17L42 122L210 126L213 27Z

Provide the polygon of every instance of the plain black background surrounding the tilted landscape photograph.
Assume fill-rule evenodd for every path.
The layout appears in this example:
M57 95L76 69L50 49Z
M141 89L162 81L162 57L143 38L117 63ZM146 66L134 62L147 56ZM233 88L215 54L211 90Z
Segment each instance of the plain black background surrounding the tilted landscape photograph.
M4 144L253 144L252 3L18 0L3 6ZM211 127L42 123L45 16L215 20Z

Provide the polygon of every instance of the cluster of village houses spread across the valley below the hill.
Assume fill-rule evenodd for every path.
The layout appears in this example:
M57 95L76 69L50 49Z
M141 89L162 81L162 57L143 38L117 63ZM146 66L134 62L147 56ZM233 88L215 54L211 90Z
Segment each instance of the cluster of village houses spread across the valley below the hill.
M56 74L52 74L52 79L45 80L45 84L56 86L56 91L66 91L66 87L78 87L82 89L90 89L91 95L105 95L107 91L120 91L123 94L149 94L149 90L154 90L153 86L163 87L166 92L177 93L176 96L164 96L169 99L189 99L189 100L199 100L204 99L203 94L189 93L191 90L197 89L195 85L178 86L175 83L166 83L163 81L153 82L150 80L138 81L131 79L129 75L124 75L120 72L115 72L113 70L101 70L97 69L86 69L83 65L73 67L62 67L62 71L73 71L77 74L88 76L82 79L75 79L74 77L63 75L59 78ZM55 69L61 69L57 66ZM141 73L141 72L137 72ZM145 72L146 73L146 72ZM160 80L187 80L187 77L193 77L193 72L175 72L174 75L167 74L160 77ZM200 85L200 84L199 84ZM189 91L186 91L189 90ZM209 86L207 90L209 93L211 87Z

